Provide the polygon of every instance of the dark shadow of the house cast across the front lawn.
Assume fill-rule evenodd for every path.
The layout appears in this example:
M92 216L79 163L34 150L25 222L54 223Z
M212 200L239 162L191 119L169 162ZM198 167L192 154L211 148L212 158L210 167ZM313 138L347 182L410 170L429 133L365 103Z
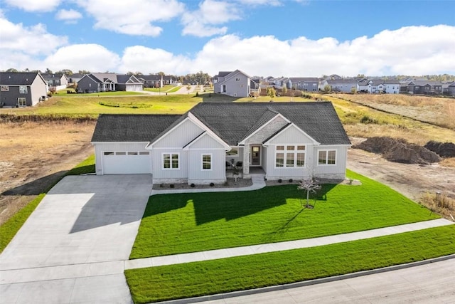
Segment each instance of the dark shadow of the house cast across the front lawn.
M311 199L325 201L327 199L327 193L335 186L335 184L324 184L316 195L311 196ZM282 206L287 204L288 199L296 198L301 198L302 204L306 204L306 201L303 201L303 199L306 199L306 192L304 194L304 192L299 191L297 185L265 187L247 192L167 194L161 197L151 196L144 217L163 214L168 211L184 208L188 204L193 204L196 224L202 225L220 219L231 221L243 216L256 214L260 211Z

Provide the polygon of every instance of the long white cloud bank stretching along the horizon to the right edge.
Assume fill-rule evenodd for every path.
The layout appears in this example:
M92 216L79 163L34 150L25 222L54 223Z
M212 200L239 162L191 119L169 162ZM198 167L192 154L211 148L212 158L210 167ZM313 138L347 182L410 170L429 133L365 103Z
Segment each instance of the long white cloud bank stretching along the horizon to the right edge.
M227 35L205 44L193 60L193 70L213 75L239 68L264 76L453 74L455 39L449 37L455 37L455 26L410 26L343 42Z

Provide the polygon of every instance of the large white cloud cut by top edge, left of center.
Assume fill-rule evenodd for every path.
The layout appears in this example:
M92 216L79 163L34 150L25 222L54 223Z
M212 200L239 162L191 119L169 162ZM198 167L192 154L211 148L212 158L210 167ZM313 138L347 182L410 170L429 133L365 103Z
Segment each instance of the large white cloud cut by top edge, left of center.
M95 18L95 28L140 36L159 36L162 28L152 23L169 21L184 8L176 0L80 0L76 3Z

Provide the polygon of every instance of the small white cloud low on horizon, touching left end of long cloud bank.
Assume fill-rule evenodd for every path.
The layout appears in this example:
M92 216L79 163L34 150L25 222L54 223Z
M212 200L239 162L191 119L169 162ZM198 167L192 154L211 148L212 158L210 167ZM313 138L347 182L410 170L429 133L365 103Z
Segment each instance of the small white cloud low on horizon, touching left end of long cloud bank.
M119 72L139 71L144 74L173 73L186 74L191 66L191 59L186 56L174 55L161 48L146 48L144 46L130 46L125 48Z

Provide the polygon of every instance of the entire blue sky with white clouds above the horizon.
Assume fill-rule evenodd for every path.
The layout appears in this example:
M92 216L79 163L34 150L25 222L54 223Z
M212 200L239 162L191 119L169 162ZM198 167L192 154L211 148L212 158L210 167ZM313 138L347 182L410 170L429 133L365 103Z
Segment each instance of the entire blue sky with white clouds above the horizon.
M0 70L455 74L455 1L3 0Z

